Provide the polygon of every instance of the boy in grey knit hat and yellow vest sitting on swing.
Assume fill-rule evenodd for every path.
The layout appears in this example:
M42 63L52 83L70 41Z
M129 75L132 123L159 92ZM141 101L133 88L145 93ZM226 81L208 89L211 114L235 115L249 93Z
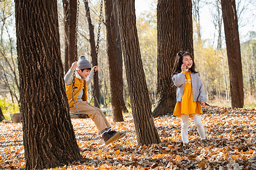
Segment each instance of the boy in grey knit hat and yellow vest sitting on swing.
M73 62L71 69L69 69L68 73L64 76L68 101L72 99L73 71L75 69L76 76L74 99L76 101L77 108L79 109L79 113L88 114L88 116L93 120L94 124L97 126L97 129L102 134L105 145L124 137L126 134L125 132L120 133L119 131L117 132L115 130L111 130L111 125L101 109L94 107L86 101L87 84L92 80L94 72L98 70L98 66L94 66L92 69L92 65L87 59L85 59L85 56L80 56L79 61ZM72 100L69 104L69 112L72 114L78 114L75 101Z

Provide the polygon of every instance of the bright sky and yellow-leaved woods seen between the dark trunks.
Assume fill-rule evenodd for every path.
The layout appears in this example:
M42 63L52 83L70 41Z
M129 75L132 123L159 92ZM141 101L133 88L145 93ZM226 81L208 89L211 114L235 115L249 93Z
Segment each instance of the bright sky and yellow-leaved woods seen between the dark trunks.
M219 107L230 107L228 59L226 56L220 2L215 0L207 2L194 0L192 2L195 63L208 97L207 103ZM65 33L63 2L58 1L58 4L61 58L64 63ZM143 69L146 75L152 109L154 109L157 86L157 1L135 1L135 5ZM256 106L256 29L254 27L255 10L253 8L255 6L255 1L236 1L238 27L240 31L245 107ZM94 34L97 35L100 1L89 1L89 7L94 25ZM19 74L16 55L14 1L1 1L0 10L0 105L3 114L8 119L10 113L19 112ZM103 16L105 18L104 14ZM91 61L89 28L84 5L80 5L77 46L78 56L85 55ZM111 109L109 73L106 71L109 70L106 50L106 28L103 21L98 54L100 103L102 107ZM126 106L129 108L130 100L125 68L123 68L123 82L123 95ZM89 96L92 96L92 84L90 84L88 92Z

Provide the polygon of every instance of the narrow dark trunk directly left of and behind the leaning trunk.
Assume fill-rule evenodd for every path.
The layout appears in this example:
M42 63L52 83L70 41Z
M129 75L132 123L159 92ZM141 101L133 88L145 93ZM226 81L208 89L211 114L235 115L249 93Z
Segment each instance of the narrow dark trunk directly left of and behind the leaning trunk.
M109 61L109 77L111 103L113 108L113 121L122 122L122 105L120 100L119 77L117 69L117 50L115 45L115 19L113 14L112 0L105 0L105 15L106 15L106 41Z

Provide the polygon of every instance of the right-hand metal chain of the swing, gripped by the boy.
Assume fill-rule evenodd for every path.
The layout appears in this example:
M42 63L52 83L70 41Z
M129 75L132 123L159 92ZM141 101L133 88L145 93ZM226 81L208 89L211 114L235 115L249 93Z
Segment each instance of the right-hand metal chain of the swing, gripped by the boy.
M99 48L99 43L100 43L100 31L101 31L101 20L102 20L102 6L103 6L103 0L101 0L101 9L100 9L100 16L98 20L98 34L97 34L97 44L96 44L96 56L95 56L95 66L98 65L98 48ZM94 71L94 70L93 70ZM96 74L93 75L93 96L95 96L95 91L96 91Z

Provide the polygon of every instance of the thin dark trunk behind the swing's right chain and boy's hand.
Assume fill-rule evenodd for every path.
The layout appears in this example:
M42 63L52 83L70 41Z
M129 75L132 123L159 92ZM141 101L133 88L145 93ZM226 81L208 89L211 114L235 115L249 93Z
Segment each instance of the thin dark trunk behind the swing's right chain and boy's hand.
M90 18L90 8L88 5L88 1L84 1L85 11L86 11L86 18L89 26L89 35L90 35L90 56L92 57L92 64L93 66L96 65L96 46L95 46L95 40L94 40L94 25L92 24L92 19ZM100 87L98 85L98 72L94 73L96 76L96 79L94 79L94 86L95 86L95 92L93 95L97 97L97 99L100 99ZM100 101L99 101L100 102ZM94 100L94 105L96 107L100 107L97 104L97 101Z

